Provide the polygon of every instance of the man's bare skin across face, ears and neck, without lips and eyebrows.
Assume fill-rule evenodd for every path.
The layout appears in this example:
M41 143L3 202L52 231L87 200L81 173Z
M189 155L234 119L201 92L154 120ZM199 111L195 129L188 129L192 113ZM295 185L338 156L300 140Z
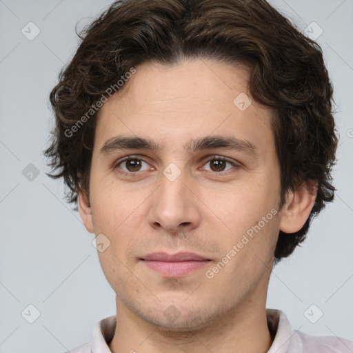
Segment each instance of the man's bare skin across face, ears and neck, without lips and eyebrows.
M248 94L245 68L197 59L173 66L144 63L136 69L124 90L99 111L90 204L79 192L85 228L110 240L98 252L117 294L110 350L267 352L272 337L265 302L278 233L301 229L315 194L305 185L288 193L281 212L248 237L212 279L205 276L247 230L278 210L280 169L270 129L272 111L254 101L241 111L233 103L241 92ZM103 143L118 134L150 138L163 149L101 154ZM190 139L213 135L247 139L259 155L224 148L189 154L183 149ZM131 155L142 161L140 169L134 172L129 163L117 166ZM213 156L234 165L227 163L216 172L210 161L219 159ZM163 174L170 163L181 172L174 181ZM130 171L129 176L123 171ZM139 260L159 251L194 252L211 261L171 278ZM174 321L163 314L168 307L179 314Z

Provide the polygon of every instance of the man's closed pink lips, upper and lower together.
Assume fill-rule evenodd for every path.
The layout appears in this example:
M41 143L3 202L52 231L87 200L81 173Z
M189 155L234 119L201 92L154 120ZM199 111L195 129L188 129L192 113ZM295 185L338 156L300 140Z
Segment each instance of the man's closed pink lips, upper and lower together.
M141 262L164 277L183 277L208 265L210 259L192 252L167 254L154 252L143 256Z

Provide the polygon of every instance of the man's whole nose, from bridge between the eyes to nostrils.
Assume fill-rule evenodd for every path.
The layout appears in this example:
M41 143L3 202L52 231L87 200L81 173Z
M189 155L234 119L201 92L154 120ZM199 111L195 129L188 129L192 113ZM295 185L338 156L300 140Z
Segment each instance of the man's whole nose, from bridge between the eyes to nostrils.
M192 229L199 224L196 197L189 190L188 175L170 163L160 176L159 188L154 192L149 222L152 227L177 231L185 226Z

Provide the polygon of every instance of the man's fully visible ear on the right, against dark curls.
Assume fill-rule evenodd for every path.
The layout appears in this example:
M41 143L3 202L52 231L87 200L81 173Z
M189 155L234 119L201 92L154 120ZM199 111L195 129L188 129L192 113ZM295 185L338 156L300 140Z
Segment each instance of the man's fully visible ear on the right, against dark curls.
M279 229L285 233L295 233L303 228L312 208L317 194L316 182L304 182L301 187L290 192L281 210Z

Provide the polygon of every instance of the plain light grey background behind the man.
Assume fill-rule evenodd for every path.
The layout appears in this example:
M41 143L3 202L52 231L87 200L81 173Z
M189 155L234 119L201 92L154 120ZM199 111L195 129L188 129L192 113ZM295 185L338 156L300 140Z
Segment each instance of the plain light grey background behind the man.
M303 247L274 268L268 307L283 310L296 330L353 340L353 1L270 2L301 30L312 21L323 29L317 41L334 83L341 139L336 200L314 220ZM50 90L77 48L74 26L109 4L0 0L1 353L64 352L90 341L94 324L115 314L94 235L63 200L63 184L46 176L41 154L52 126ZM21 33L30 21L41 31L32 41ZM39 170L32 181L22 174L30 163ZM33 315L30 304L40 312L34 323L21 315ZM316 323L304 315L312 304L323 312Z

